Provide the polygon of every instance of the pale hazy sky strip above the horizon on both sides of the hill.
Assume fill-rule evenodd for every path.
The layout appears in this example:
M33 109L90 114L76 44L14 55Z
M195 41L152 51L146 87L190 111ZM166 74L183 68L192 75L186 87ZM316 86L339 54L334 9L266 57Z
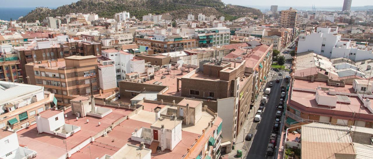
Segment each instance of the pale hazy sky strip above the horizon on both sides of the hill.
M78 0L0 0L0 7L58 7ZM343 6L344 0L222 0L224 3L247 6ZM373 0L352 0L352 6L373 5Z

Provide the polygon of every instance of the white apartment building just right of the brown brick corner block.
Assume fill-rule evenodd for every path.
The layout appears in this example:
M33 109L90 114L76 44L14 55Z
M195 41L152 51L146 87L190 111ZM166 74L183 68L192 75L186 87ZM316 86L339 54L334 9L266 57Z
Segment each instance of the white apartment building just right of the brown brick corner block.
M131 53L109 49L103 50L102 56L114 61L117 82L125 80L128 73L145 72L145 60L136 58Z

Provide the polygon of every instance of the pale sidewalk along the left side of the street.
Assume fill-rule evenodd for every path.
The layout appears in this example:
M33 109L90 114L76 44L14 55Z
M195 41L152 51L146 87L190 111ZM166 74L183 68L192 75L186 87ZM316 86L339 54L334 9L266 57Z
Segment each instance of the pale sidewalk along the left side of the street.
M274 74L274 73L272 73L272 74ZM263 94L263 90L269 84L269 81L272 80L272 77L273 77L273 75L271 75L271 71L270 71L268 73L267 82L264 83L265 85L263 85L262 89L259 91L259 95L258 95L257 99L255 100L254 106L250 110L250 113L248 114L247 119L244 122L244 127L242 127L241 131L239 132L239 134L238 134L238 136L236 138L236 142L235 142L235 145L234 145L235 149L232 150L232 152L223 155L222 158L227 158L227 156L228 156L229 159L238 158L236 156L237 150L242 150L242 158L246 158L247 153L250 150L251 142L255 138L255 133L256 133L256 130L254 130L253 132L250 132L250 128L251 128L251 126L253 124L254 116L255 116L255 114L256 114L256 112L257 112L257 110L259 108L259 105L260 105L261 94ZM264 111L265 111L265 109L264 109ZM246 137L246 135L248 133L251 133L251 134L254 135L253 139L251 139L251 141L245 141L245 137ZM246 144L245 144L245 142L250 142L250 146L247 147Z

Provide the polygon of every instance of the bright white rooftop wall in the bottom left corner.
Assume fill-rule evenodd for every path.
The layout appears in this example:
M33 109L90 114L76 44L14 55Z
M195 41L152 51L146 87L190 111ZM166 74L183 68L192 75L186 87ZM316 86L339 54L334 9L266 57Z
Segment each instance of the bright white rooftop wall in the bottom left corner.
M1 130L3 131L3 130ZM5 141L8 140L9 143L5 143ZM12 133L11 135L7 137L3 137L3 139L0 139L0 158L4 159L12 159L15 158L15 151L18 149L18 138L16 133ZM5 155L9 152L13 152L12 155L5 157Z

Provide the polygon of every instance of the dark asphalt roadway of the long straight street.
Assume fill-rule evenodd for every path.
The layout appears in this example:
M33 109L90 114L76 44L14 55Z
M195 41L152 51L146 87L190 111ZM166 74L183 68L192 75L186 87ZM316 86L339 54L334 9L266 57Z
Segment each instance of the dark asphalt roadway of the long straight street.
M277 77L276 77L277 76ZM284 72L282 76L275 75L272 78L273 87L271 88L271 94L268 99L268 103L264 108L264 113L262 114L261 121L259 123L253 123L250 128L250 132L254 134L253 141L245 143L249 145L251 143L250 150L247 154L247 159L266 159L267 158L267 146L270 139L270 134L272 133L273 123L275 121L276 106L280 99L281 84L283 80ZM280 79L279 83L276 83L276 79ZM258 97L259 98L259 97Z

